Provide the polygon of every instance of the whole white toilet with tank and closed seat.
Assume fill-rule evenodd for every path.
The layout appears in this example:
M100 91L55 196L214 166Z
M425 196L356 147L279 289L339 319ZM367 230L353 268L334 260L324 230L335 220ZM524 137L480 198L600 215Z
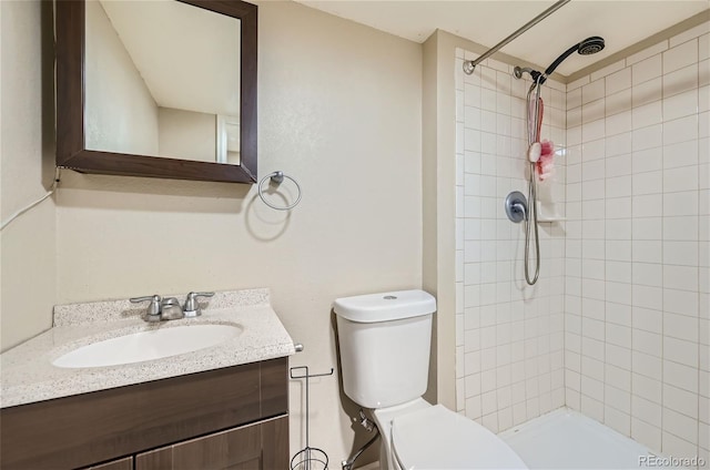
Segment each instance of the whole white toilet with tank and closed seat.
M488 429L422 398L436 299L423 290L338 298L345 394L371 410L382 470L526 469ZM452 345L453 347L453 345Z

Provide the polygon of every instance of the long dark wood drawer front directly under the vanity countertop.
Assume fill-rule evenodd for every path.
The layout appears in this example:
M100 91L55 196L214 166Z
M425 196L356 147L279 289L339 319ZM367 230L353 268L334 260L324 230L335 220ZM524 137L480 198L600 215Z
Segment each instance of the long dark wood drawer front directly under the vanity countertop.
M271 359L3 408L0 467L88 467L285 415L286 369Z

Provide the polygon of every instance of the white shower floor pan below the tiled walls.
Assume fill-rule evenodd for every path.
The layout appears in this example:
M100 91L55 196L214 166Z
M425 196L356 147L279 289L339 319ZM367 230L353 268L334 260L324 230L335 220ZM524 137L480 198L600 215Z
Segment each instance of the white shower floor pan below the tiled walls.
M663 467L647 447L568 408L498 435L530 469L645 469ZM643 460L646 459L646 460Z

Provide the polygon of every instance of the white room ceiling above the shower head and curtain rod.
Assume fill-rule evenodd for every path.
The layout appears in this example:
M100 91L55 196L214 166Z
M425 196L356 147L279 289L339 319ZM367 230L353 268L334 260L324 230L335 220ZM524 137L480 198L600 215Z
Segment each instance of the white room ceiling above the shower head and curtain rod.
M436 29L442 29L488 48L555 3L538 0L296 1L416 42L425 41ZM572 0L501 52L547 68L585 38L605 38L604 51L591 57L574 54L557 69L562 75L570 75L709 7L710 0Z

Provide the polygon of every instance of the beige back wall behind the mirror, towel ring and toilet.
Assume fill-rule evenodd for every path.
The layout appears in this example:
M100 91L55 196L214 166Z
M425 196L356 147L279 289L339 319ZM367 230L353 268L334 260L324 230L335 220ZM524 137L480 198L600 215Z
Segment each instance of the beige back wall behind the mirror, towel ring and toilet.
M258 71L260 173L295 177L301 204L281 213L254 186L65 172L58 300L271 287L305 345L292 365L320 372L337 366L333 299L422 285L420 45L260 2ZM295 451L301 384L291 391ZM343 408L356 408L337 377L312 381L311 399L311 445L338 462L354 439Z

